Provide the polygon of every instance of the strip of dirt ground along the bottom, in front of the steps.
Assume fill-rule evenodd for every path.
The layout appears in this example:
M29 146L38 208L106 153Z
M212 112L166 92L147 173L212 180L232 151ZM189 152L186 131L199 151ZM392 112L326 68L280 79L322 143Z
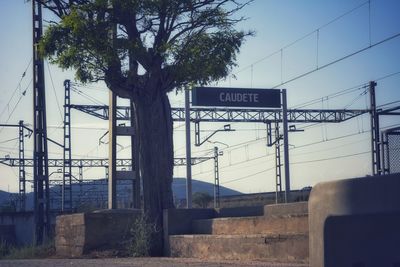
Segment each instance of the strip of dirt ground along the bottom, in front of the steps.
M211 261L201 259L182 259L182 258L105 258L105 259L39 259L39 260L0 260L1 267L308 267L306 264L284 264L268 262L244 262L244 261Z

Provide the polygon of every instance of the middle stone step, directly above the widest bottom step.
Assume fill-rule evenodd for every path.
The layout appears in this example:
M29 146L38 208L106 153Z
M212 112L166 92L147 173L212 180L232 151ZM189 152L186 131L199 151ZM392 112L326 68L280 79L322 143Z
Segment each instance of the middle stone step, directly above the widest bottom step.
M257 216L194 220L192 234L307 234L308 215Z

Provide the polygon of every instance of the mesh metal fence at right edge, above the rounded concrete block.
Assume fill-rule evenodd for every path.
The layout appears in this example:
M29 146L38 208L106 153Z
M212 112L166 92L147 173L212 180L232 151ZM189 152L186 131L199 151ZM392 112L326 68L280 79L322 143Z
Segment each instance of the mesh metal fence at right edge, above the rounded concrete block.
M400 173L400 127L382 133L383 173Z

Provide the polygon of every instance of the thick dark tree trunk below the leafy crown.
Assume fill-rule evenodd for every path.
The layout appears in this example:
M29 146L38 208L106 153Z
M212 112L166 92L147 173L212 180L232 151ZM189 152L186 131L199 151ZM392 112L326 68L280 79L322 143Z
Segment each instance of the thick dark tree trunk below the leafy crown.
M143 181L144 211L157 233L151 242L152 256L162 255L162 211L173 207L173 125L171 106L165 93L144 94L134 99L139 169Z

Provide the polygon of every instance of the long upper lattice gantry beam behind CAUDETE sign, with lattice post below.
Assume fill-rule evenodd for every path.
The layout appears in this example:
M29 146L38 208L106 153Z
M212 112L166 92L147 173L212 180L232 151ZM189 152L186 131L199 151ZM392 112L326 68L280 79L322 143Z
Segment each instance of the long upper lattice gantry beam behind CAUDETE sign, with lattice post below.
M108 120L109 109L106 105L71 105L71 108L93 115L97 118ZM190 108L191 122L195 123L196 137L199 135L200 122L257 122L265 123L271 126L271 122L275 124L275 155L276 155L276 190L277 202L283 201L282 195L282 159L281 147L283 134L279 133L279 124L287 121L289 123L339 123L356 116L370 112L365 109L347 110L347 109L287 109L283 114L282 109L237 109L237 108ZM172 108L171 115L173 121L185 121L185 108ZM129 120L131 110L127 106L116 107L116 116L118 120ZM285 118L284 118L285 116ZM286 120L284 120L286 119ZM287 129L286 129L287 130ZM285 131L284 131L285 132ZM285 146L284 146L285 147ZM288 150L288 149L286 149ZM286 151L288 153L288 151ZM287 157L284 158L288 160ZM289 169L285 164L285 179L289 177ZM285 181L285 192L290 191L290 184ZM285 201L288 201L288 194L285 194Z

